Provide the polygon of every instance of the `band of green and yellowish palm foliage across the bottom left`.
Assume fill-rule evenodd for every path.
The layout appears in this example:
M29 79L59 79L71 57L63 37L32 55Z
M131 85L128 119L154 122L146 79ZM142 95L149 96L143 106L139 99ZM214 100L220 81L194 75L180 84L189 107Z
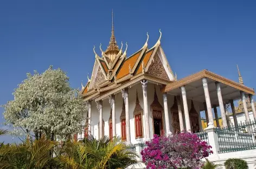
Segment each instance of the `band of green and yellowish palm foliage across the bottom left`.
M137 164L135 152L126 149L120 138L93 137L79 142L50 141L46 138L0 147L3 169L111 169ZM53 153L54 152L54 153ZM54 155L53 155L54 154Z

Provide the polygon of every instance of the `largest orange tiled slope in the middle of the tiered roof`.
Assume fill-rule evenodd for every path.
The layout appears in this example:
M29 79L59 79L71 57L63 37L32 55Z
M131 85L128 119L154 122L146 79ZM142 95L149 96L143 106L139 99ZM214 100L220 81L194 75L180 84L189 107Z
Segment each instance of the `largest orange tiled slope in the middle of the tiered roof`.
M142 50L139 50L137 53L130 56L124 61L123 65L121 65L121 68L117 74L117 79L120 79L121 77L124 77L129 74L129 65L131 65L131 69L132 69L140 53L142 53Z

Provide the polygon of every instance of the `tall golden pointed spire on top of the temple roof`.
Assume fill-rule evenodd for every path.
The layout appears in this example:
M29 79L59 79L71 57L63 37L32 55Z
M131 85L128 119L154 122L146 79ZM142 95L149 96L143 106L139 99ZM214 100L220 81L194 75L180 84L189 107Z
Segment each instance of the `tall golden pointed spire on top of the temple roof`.
M114 36L114 13L112 9L112 29L111 29L111 37L110 37L110 44L107 47L107 50L105 51L106 55L110 54L117 54L119 52L119 48L117 46L116 37Z

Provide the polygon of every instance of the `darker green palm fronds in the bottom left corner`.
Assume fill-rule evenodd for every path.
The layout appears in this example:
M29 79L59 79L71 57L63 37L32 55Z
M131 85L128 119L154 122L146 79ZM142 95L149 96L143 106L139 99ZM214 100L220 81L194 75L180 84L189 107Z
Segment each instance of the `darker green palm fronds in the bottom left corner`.
M49 168L56 166L50 151L57 145L45 138L30 142L28 139L22 144L3 145L0 148L0 168Z

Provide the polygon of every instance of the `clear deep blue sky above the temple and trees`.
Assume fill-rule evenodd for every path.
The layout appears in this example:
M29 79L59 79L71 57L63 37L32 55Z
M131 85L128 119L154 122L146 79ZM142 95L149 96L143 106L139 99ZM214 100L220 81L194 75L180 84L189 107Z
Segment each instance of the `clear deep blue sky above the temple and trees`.
M13 99L27 72L49 65L80 88L91 75L93 45L98 54L100 43L108 45L112 9L117 42L128 43L128 55L143 46L146 32L153 46L161 28L178 79L209 69L238 81L238 63L245 85L255 88L256 1L0 1L0 105Z

